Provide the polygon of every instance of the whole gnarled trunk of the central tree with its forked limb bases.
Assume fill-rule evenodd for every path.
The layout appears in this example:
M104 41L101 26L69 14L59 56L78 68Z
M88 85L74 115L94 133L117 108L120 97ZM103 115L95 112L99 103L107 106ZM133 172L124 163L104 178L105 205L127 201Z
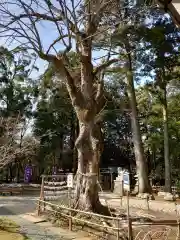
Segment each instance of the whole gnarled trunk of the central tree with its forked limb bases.
M79 57L80 71L69 72L66 65L68 61L64 56L49 56L57 69L57 72L66 80L66 87L76 112L79 122L79 135L75 146L78 152L78 169L76 174L76 188L74 207L87 211L106 211L99 200L98 173L99 161L102 151L101 127L98 123L98 114L106 103L102 77L98 79L99 73L107 65L93 69L92 65L92 39L91 36L96 29L96 25L87 25L87 35L79 36ZM90 31L90 33L89 33ZM44 55L41 55L44 57ZM66 63L66 64L65 64ZM108 214L108 211L106 211Z

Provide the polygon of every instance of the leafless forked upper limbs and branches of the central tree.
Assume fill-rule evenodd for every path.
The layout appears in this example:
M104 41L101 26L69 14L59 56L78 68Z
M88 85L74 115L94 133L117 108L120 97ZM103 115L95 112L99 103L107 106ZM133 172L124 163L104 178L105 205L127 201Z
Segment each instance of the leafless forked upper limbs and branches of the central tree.
M0 3L0 14L2 13L0 34L3 37L12 35L13 40L22 41L21 44L25 42L26 46L34 49L40 58L52 62L56 66L59 76L66 81L73 102L77 95L81 94L91 99L97 75L116 62L116 60L109 60L93 72L92 41L95 40L95 36L103 34L107 30L110 31L111 26L106 24L106 18L111 15L109 8L112 2L115 1L81 0L76 2L71 0L67 3L65 0L57 0L57 4L55 4L48 0L11 0L8 3L6 0L2 0ZM17 11L14 11L14 8ZM44 39L39 27L40 23L44 21L49 22L50 26L52 24L51 29L54 30L55 27L56 36L53 37L55 39L48 46L47 43L43 44ZM82 25L80 25L81 23ZM110 34L108 34L109 32L107 33L109 37ZM73 41L80 59L79 85L81 91L79 92L67 55L72 48ZM63 47L61 47L62 45ZM102 84L101 88L103 89ZM97 90L97 92L100 91Z

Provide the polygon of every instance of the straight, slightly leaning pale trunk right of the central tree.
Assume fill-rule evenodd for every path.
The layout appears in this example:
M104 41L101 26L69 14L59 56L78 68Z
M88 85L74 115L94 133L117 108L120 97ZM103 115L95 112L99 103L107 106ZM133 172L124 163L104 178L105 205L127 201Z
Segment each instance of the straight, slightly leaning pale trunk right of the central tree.
M131 68L127 72L127 93L131 106L131 127L133 134L134 153L136 159L136 171L139 182L139 193L150 193L151 187L148 179L148 167L144 155L141 139L140 125L138 121L137 102L134 88L133 73Z

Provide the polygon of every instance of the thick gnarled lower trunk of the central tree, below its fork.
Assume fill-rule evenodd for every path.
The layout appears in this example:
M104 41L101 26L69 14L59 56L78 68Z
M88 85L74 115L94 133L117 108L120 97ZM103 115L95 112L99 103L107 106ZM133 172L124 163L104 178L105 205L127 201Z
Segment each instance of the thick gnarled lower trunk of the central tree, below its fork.
M76 141L78 151L77 183L75 205L88 211L100 212L99 201L99 162L102 151L101 128L93 121L79 123L79 136Z

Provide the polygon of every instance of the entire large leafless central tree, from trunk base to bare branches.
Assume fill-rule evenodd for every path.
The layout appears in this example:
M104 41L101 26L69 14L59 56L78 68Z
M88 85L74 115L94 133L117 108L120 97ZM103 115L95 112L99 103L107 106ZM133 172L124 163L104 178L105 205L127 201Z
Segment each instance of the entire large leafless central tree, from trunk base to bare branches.
M113 2L114 3L114 2ZM38 5L38 8L37 8ZM39 11L37 10L39 9ZM97 177L102 150L102 134L96 116L105 104L103 79L100 73L117 59L105 58L101 65L93 66L92 53L95 36L108 29L106 19L115 9L109 1L37 1L3 0L0 27L3 37L12 34L13 39L24 39L40 58L53 64L55 71L67 87L72 106L79 121L76 206L86 210L101 211ZM20 14L19 14L20 12ZM9 19L9 20L7 20ZM56 37L46 47L40 29L41 22L56 28ZM47 27L49 26L47 24ZM107 38L109 37L107 31ZM73 69L67 53L76 46L80 59L79 68ZM61 48L63 44L63 47ZM109 56L109 55L108 55Z

